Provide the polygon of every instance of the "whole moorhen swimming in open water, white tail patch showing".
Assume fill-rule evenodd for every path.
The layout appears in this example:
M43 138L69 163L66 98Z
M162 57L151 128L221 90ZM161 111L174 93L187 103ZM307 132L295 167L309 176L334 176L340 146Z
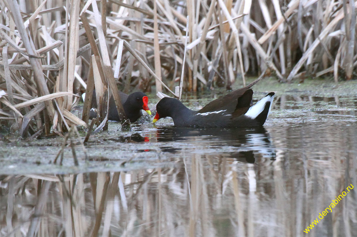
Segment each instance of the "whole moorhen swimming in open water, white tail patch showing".
M188 109L175 98L164 97L156 105L156 115L152 122L171 117L175 127L262 126L270 113L274 92L251 106L252 84L220 97L198 111Z

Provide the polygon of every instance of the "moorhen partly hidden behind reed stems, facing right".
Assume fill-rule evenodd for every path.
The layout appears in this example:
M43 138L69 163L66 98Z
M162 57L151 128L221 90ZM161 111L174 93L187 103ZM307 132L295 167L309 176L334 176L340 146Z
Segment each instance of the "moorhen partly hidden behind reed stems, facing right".
M149 115L151 115L151 111L149 107L147 107L148 98L146 94L142 92L134 92L128 96L127 94L119 91L119 96L120 96L121 103L123 104L125 115L129 119L130 123L136 122L136 120L142 116L141 113L142 109L144 109ZM89 118L93 119L97 117L97 114L94 111L94 109L97 108L97 99L96 99L95 90L93 92L91 107L92 109L90 111ZM119 114L116 109L113 96L111 96L109 99L108 120L119 121Z

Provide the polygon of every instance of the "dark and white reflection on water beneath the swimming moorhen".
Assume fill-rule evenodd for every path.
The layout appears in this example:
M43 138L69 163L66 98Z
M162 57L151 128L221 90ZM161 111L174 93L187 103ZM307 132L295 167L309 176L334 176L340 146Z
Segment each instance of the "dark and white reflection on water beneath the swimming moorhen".
M167 143L160 149L168 153L178 153L182 149L186 149L185 144L188 142L197 145L197 147L203 146L201 149L203 154L207 150L207 153L217 154L215 155L217 158L224 156L228 160L238 160L243 163L254 163L257 157L270 160L275 160L276 157L270 134L263 127L251 129L161 127L153 134L135 133L130 137L130 140ZM182 146L180 146L181 143ZM229 151L222 153L222 148L225 147ZM215 149L217 149L217 153Z

